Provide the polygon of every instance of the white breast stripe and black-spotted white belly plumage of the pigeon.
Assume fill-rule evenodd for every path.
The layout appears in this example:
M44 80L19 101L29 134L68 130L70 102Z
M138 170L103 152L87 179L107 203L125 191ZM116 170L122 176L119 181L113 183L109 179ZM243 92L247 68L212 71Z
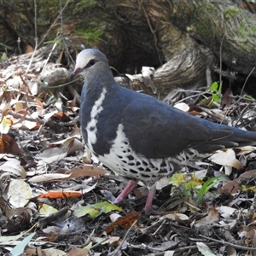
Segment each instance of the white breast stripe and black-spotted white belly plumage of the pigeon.
M96 155L103 165L113 172L118 172L125 177L140 179L145 182L152 182L162 176L170 176L174 171L179 171L181 166L186 166L188 160L193 159L196 150L188 149L181 154L172 155L164 159L148 159L143 154L135 152L131 148L129 139L125 136L124 125L119 124L116 137L109 141L108 154L97 154L94 146L97 138L101 137L97 131L97 121L99 114L102 113L102 102L105 99L107 90L103 89L102 94L90 112L90 121L86 125L87 141L86 148L91 154Z

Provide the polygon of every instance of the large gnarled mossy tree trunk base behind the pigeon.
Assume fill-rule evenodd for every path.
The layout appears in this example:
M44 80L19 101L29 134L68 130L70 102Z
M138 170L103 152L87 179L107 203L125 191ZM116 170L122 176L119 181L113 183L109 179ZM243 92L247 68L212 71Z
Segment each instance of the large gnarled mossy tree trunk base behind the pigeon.
M255 81L255 14L231 0L91 0L67 1L62 7L59 1L38 1L36 8L34 3L1 2L0 42L17 48L20 37L21 46L34 45L37 20L38 46L61 32L68 39L60 41L66 53L81 44L96 47L119 73L157 68L154 85L160 98L176 87L209 85L207 70L212 80L222 73L241 85L248 74Z

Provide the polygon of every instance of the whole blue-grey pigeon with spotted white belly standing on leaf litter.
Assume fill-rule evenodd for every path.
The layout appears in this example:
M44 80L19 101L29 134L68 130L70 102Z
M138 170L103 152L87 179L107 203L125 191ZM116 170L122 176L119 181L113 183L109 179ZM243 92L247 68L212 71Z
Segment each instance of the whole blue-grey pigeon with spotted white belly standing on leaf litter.
M213 150L256 144L256 132L218 125L184 113L152 96L119 86L98 49L84 49L72 73L84 76L80 123L84 143L109 169L133 181L151 184L145 211L154 197L154 182L177 172Z

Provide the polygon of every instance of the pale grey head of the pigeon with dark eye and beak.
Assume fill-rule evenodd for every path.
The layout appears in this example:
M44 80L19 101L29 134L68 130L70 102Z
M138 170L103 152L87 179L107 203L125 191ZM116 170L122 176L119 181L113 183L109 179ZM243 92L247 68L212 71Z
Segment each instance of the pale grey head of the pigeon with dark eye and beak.
M109 69L107 57L98 49L84 49L77 56L76 66L70 79L73 79L76 74L83 75L84 79L90 79L96 73L100 74L101 69L104 69L105 72Z

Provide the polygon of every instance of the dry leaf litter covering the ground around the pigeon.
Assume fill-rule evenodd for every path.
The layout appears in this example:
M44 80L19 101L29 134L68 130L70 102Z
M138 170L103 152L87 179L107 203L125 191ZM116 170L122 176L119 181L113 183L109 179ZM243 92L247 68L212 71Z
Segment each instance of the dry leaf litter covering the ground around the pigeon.
M143 212L143 183L116 206L112 201L127 179L91 162L84 152L78 118L81 80L73 84L76 93L61 86L70 72L52 63L45 66L51 47L36 52L27 75L14 69L20 65L26 70L30 53L10 58L9 67L0 63L0 69L5 67L0 89L0 253L253 255L255 148L218 151L195 163L196 168L161 178L155 214ZM63 58L58 47L51 54L55 60ZM60 87L45 86L51 83ZM181 102L177 96L169 102L199 118L253 129L248 125L255 109L252 99L241 97L238 107L230 87L221 102L228 108L220 109L219 97L207 99L207 93L202 97L207 106L204 101ZM247 111L241 116L243 109Z

